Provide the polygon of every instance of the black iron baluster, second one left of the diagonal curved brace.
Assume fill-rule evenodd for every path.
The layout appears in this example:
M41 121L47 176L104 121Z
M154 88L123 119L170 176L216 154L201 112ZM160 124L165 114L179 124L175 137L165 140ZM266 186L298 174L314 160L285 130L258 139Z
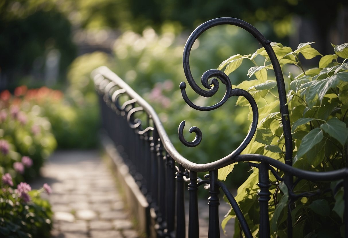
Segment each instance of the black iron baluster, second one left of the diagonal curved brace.
M190 171L190 203L189 203L189 237L199 237L199 223L198 223L198 197L197 197L197 172Z

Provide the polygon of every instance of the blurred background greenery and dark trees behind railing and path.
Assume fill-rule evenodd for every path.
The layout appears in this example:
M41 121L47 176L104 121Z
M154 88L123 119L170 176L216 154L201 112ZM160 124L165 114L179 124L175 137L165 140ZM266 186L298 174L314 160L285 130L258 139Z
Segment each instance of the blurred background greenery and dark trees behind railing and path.
M50 122L58 147L91 148L97 146L99 112L90 72L106 65L153 105L180 153L205 163L239 145L249 127L248 111L236 109L236 100L216 112L197 112L185 105L179 90L185 80L182 52L193 29L212 18L236 17L271 41L293 48L316 41L316 49L325 54L330 42L348 41L347 5L343 0L2 0L0 91L13 93L23 84L61 90L59 101L48 98L38 105L40 115ZM214 27L199 37L191 52L193 76L199 80L229 56L258 48L236 27ZM232 84L248 79L248 63L230 75ZM188 89L199 105L216 103L221 93L202 99ZM198 147L188 149L179 142L177 126L182 120L187 120L187 128L202 129ZM190 140L188 133L186 137ZM245 172L241 168L234 173L238 171Z

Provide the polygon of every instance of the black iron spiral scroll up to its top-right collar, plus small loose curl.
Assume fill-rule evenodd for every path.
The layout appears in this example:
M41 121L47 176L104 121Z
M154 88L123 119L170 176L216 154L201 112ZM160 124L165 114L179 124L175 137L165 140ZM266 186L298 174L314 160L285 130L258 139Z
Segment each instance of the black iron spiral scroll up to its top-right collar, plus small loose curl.
M239 89L239 88L235 88L232 89L232 85L231 85L231 80L230 78L223 73L220 70L217 69L210 69L207 70L202 76L201 76L201 83L203 85L204 88L207 88L208 90L204 90L202 88L200 88L197 83L195 82L195 80L193 79L191 70L190 70L190 52L193 46L193 43L195 43L195 41L197 40L197 38L203 33L205 32L207 29L213 27L213 26L217 26L217 25L223 25L223 24L230 24L230 25L237 25L240 26L244 29L246 29L248 32L250 32L253 36L256 37L256 39L258 39L261 44L269 44L270 42L267 41L263 35L258 32L253 26L251 26L250 24L236 19L236 18L216 18L213 20L210 20L206 23L203 23L202 25L200 25L199 27L197 27L195 29L195 31L193 31L191 33L191 35L189 36L185 47L184 47L184 53L183 53L183 68L184 68L184 73L185 76L187 78L187 81L189 83L189 85L191 86L191 88L199 95L204 96L204 97L211 97L213 95L216 94L216 92L219 90L219 80L226 86L226 92L223 96L223 98L216 103L215 105L212 106L208 106L208 107L201 107L199 105L194 104L189 97L187 96L186 93L186 83L182 82L180 84L180 89L181 89L181 94L182 97L184 99L184 101L193 109L199 110L199 111L211 111L214 110L216 108L221 107L231 96L243 96L245 97L248 102L251 105L252 108L252 112L253 112L253 120L252 120L252 125L251 125L251 129L248 132L248 134L246 135L245 139L243 140L243 142L237 147L237 149L231 153L231 155L237 155L239 153L241 153L245 147L250 143L252 137L254 136L255 132L256 132L256 128L257 128L257 124L258 124L258 119L259 119L259 113L258 113L258 107L257 104L254 100L254 98L252 97L252 95L250 93L248 93L245 90ZM211 82L209 83L209 79L211 79ZM219 79L219 80L218 80ZM185 126L185 121L181 122L179 129L178 129L178 134L179 134L179 139L180 141L189 147L194 147L197 146L202 139L202 133L200 131L199 128L197 127L191 127L190 128L190 133L191 132L195 132L196 133L196 138L192 141L192 142L188 142L185 140L184 136L183 136L183 128Z

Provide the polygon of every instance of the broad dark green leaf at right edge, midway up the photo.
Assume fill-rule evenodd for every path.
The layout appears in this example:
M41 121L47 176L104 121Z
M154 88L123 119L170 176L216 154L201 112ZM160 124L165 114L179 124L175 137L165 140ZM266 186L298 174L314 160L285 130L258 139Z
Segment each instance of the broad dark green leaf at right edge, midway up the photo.
M343 121L340 121L337 117L333 117L325 124L322 124L320 128L322 128L323 131L325 131L331 137L337 139L342 146L345 145L348 132L346 124Z

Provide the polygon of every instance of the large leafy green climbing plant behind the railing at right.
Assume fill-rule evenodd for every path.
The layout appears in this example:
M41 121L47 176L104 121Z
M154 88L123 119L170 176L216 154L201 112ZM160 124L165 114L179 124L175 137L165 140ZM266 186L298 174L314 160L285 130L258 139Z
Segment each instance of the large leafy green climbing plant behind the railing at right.
M298 69L285 78L292 125L293 166L309 171L333 171L346 167L348 160L348 43L332 45L334 54L326 56L315 50L313 43L301 43L296 50L280 43L272 42L271 45L283 71L294 71L289 66ZM305 70L301 57L308 60L316 56L321 57L318 67ZM263 154L284 162L285 145L276 81L268 75L272 65L264 48L253 54L231 56L221 63L219 69L230 74L243 60L255 64L247 75L256 79L232 87L242 88L253 95L258 103L260 119L254 139L243 154ZM243 97L239 97L236 104L249 106ZM248 118L251 119L251 113ZM232 169L233 166L221 169L219 179L225 180ZM279 171L279 175L283 176L283 173ZM286 209L290 191L271 173L269 176L273 195L269 202L271 236L287 237ZM253 236L257 236L259 231L257 183L258 170L254 168L250 177L238 188L236 196ZM337 184L339 181L295 182L292 191L301 196L293 202L291 211L294 237L343 237L343 188ZM231 218L235 218L232 209L222 221L223 228ZM236 220L234 237L239 237L240 233Z

